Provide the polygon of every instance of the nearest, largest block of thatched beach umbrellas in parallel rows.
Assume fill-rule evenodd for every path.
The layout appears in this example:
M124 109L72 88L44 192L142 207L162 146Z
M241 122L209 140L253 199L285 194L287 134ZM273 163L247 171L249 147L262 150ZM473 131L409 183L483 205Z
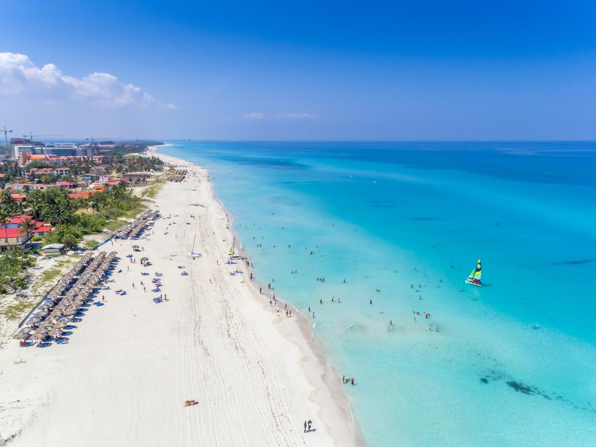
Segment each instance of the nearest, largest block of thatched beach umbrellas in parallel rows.
M20 328L13 338L26 340L32 337L33 340L41 341L47 336L60 337L64 327L70 323L71 318L80 311L81 306L94 293L95 287L104 279L105 272L110 269L116 256L116 252L100 252L91 260L92 253L83 255L70 272L52 288L36 312L27 319L28 326ZM85 262L88 265L85 265Z

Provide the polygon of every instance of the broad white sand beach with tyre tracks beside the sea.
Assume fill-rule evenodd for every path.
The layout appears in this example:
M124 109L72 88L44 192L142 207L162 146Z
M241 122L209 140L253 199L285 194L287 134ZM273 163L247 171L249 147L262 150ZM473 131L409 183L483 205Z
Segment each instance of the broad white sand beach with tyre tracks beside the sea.
M244 262L224 263L232 233L206 170L160 157L193 174L160 191L154 234L104 246L122 269L100 293L105 305L88 309L67 344L12 340L0 352L0 445L361 444L306 318L269 306ZM191 260L195 236L203 256ZM144 250L130 263L134 244ZM230 275L236 268L243 273ZM155 272L162 303L152 301ZM197 405L183 406L190 399ZM313 430L303 433L309 419Z

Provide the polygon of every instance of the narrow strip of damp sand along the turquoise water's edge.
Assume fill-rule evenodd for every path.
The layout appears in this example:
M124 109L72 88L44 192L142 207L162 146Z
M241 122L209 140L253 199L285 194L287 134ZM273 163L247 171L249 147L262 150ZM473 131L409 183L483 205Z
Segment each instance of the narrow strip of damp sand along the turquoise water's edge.
M202 166L198 166L196 164L188 162L187 160L178 159L176 157L157 152L158 148L168 146L172 147L173 145L164 144L159 146L150 146L148 147L148 151L153 156L159 157L166 163L177 163L181 165L186 164L190 167L194 167L195 169L203 170L207 174L207 176L210 176L209 171ZM237 232L231 229L231 226L235 220L235 216L229 212L225 204L219 199L218 195L215 193L215 187L213 185L213 182L209 180L209 184L213 200L219 205L219 207L226 214L226 216L228 216L228 226L230 227L228 228L228 231L232 234L233 237L236 238L236 240L239 243L239 247L243 247L240 236L237 234ZM247 257L247 259L250 259L249 253L246 249L238 250L238 252L241 252L243 256ZM247 271L249 272L249 274L250 272L254 274L254 270L252 268L247 268ZM256 277L256 275L254 276L253 281L248 281L247 284L249 284L249 287L253 289L253 294L257 295L260 294L259 287L262 287L263 290L265 290L266 288L266 284L262 283ZM278 302L286 304L286 302L283 299L280 299L279 297L277 298ZM257 301L265 305L266 300ZM310 365L310 368L302 365L302 369L304 370L307 379L313 386L315 386L316 382L318 381L320 381L324 385L324 387L327 389L327 392L329 393L329 396L326 397L332 399L334 405L336 405L337 409L339 409L340 414L346 418L354 445L358 447L364 447L364 438L362 437L358 424L356 423L356 420L352 414L350 402L347 399L347 396L344 393L342 387L339 386L339 374L337 374L337 371L335 370L333 364L331 364L331 362L325 356L324 348L322 347L321 342L319 342L319 340L316 339L316 336L312 331L312 326L309 322L308 316L299 311L299 309L294 308L294 306L290 303L287 303L287 305L288 310L291 310L292 313L295 313L297 316L297 327L300 331L300 336L302 336L303 338L302 342L305 343L306 346L308 346L307 349L311 351L312 355L315 358L315 361L312 362L313 364ZM297 343L295 340L291 339L287 339L287 341L290 343ZM325 409L325 411L328 411L328 409Z

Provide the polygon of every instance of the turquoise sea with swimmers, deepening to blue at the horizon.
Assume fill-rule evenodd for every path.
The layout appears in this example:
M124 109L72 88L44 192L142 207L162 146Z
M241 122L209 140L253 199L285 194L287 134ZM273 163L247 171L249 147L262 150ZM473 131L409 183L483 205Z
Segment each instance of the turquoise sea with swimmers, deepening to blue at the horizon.
M596 143L169 144L355 377L367 445L596 445Z

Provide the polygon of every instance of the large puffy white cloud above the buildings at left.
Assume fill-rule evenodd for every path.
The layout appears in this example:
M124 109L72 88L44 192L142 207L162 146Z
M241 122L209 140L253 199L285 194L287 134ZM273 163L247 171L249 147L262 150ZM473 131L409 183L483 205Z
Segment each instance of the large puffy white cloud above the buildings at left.
M64 75L54 64L40 69L27 55L11 52L0 52L0 94L32 95L44 101L71 99L105 108L176 108L173 104L160 103L132 84L119 82L109 73L92 73L79 79Z

